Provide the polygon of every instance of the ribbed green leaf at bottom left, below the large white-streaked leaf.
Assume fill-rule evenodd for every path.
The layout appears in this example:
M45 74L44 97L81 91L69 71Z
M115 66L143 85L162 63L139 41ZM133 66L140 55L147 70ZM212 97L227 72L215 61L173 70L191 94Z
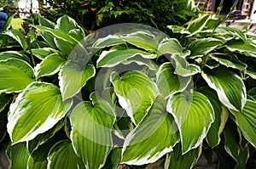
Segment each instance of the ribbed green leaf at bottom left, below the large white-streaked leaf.
M26 168L26 163L30 155L28 149L26 149L26 143L9 145L7 155L10 160L10 168Z

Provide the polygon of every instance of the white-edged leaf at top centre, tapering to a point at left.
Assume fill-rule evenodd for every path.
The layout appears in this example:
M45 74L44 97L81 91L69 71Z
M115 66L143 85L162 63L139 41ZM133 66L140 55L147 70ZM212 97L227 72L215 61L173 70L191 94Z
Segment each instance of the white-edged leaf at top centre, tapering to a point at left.
M158 42L154 39L153 35L148 35L145 31L136 31L120 37L137 48L143 48L149 52L156 53Z

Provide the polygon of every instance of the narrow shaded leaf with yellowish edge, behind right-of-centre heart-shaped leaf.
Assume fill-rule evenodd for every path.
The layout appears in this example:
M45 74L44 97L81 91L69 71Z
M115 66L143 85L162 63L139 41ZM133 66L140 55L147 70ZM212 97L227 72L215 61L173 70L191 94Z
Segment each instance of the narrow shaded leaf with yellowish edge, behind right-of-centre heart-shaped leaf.
M217 93L212 88L203 87L200 92L207 96L214 110L215 120L207 133L207 143L213 148L220 142L220 134L228 120L229 110L220 103Z

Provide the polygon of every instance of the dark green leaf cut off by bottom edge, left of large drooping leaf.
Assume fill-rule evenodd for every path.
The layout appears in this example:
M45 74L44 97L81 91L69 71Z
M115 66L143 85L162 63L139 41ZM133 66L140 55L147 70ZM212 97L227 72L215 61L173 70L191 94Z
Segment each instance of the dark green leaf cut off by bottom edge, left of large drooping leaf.
M74 152L72 143L61 140L49 150L47 166L48 168L84 168L84 163Z

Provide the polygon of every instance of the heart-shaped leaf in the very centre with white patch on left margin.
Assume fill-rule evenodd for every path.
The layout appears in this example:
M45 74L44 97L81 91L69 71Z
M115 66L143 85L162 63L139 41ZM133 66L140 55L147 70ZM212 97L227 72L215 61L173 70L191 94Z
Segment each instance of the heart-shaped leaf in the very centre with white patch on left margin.
M122 76L113 72L110 79L119 104L131 117L131 121L138 124L147 114L148 108L159 93L155 83L137 70L128 71Z

